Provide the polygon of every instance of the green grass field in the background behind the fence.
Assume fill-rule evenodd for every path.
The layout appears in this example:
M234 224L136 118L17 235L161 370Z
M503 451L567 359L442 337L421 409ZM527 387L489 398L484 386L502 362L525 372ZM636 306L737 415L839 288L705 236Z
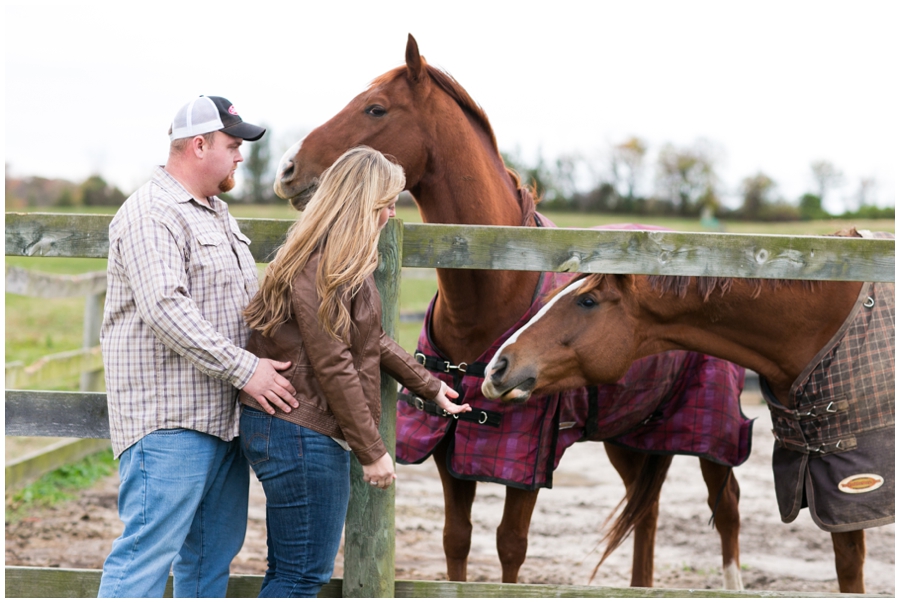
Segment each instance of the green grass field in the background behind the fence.
M248 206L234 204L232 213L242 218L281 218L293 219L298 214L287 205ZM112 213L91 209L92 213ZM71 212L78 213L78 212ZM87 213L82 210L81 213ZM398 217L406 222L421 222L419 214L412 208L400 208ZM616 222L652 223L673 230L703 232L696 220L671 218L648 218L627 215L593 215L548 212L547 217L561 228L581 228ZM886 230L894 232L893 220L818 220L811 222L730 222L723 224L726 232L763 233L763 234L828 234L857 226L870 230ZM7 266L41 272L79 274L95 270L105 270L106 261L82 258L23 258L7 257ZM400 291L400 310L402 313L424 312L431 297L437 289L433 273L415 271L404 277ZM424 278L423 278L424 274ZM83 299L45 299L35 300L20 295L6 294L6 362L22 361L26 365L38 358L55 352L77 349L81 346L81 329L84 313ZM415 349L421 325L401 323L398 340L407 350ZM77 377L73 378L77 386ZM71 389L71 388L70 388Z

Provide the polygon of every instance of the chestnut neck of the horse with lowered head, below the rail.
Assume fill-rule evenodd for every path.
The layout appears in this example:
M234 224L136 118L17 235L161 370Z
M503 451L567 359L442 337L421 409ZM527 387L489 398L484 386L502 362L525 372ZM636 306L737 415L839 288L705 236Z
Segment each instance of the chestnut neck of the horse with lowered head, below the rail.
M689 349L750 368L766 378L772 393L789 403L797 377L840 329L856 303L861 283L782 285L754 297L736 281L729 293L708 301L695 292L684 299L651 291L644 308L653 316L645 351ZM652 350L652 351L651 351Z

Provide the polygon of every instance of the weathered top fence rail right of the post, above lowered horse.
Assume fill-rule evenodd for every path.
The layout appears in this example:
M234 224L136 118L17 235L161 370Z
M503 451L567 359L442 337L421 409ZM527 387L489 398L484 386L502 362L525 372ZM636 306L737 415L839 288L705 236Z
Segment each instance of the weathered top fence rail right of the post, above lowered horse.
M894 241L406 224L403 265L893 282Z

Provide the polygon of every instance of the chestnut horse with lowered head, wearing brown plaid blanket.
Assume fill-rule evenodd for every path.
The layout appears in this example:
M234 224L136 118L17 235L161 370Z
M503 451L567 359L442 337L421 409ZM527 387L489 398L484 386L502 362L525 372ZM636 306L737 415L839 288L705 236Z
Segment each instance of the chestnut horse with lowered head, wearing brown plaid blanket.
M757 371L782 520L808 504L841 592L865 592L863 528L894 514L893 283L595 274L543 310L488 365L487 397L615 382L673 349Z

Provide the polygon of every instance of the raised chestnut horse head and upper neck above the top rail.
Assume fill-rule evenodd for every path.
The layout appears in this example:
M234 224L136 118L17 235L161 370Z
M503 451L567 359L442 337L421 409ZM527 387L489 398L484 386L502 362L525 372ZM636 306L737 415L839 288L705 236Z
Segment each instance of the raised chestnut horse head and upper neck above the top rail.
M325 169L350 148L367 145L390 156L406 173L406 188L417 202L430 197L494 199L497 188L471 190L485 182L515 197L518 177L507 173L484 111L450 75L429 65L410 35L406 64L377 78L334 117L285 152L275 193L306 207ZM499 174L499 176L498 176ZM469 187L469 190L460 187ZM440 201L435 201L435 204ZM471 208L457 208L465 215ZM441 211L441 210L437 210ZM456 215L424 216L456 223ZM468 211L468 213L472 213ZM514 225L518 225L516 222Z

